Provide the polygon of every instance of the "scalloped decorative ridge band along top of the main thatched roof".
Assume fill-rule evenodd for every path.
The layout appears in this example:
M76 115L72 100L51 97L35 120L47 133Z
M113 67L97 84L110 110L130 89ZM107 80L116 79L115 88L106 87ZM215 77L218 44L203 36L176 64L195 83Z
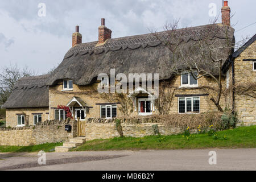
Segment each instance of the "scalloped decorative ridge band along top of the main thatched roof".
M214 28L207 28L207 26L214 26ZM222 28L223 26L221 26L220 24L207 24L205 26L181 28L177 31L181 33L185 32L185 34L177 35L179 38L181 38L181 41L184 42L189 42L190 40L199 40L201 34L210 34L212 35L212 38L226 38L226 35L224 35ZM76 56L78 54L85 55L88 52L90 53L90 55L92 55L93 53L98 55L103 52L119 51L120 49L125 50L126 48L137 49L139 47L146 48L147 46L155 47L166 42L169 38L168 34L165 31L156 32L156 34L158 34L158 37L152 34L143 34L127 36L123 38L108 39L108 41L102 46L97 46L97 41L90 43L82 43L69 49L69 51L65 54L64 59L68 59L69 57L72 57L74 54Z

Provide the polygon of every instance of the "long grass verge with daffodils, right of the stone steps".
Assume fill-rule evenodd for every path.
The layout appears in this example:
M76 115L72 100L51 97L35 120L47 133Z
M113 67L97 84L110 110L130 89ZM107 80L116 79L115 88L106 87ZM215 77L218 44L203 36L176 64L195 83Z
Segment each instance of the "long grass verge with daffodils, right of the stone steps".
M102 150L167 150L195 148L252 148L256 147L256 126L237 127L236 129L218 131L218 139L207 134L148 136L143 138L118 137L112 139L91 140L74 148L72 151ZM226 138L224 137L226 136Z

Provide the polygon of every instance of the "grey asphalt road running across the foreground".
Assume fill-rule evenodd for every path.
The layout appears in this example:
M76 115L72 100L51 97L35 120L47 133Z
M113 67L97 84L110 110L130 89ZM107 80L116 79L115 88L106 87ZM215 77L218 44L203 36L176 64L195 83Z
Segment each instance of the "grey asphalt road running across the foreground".
M209 164L216 151L217 164ZM204 150L89 151L38 154L0 153L0 170L256 170L256 148Z

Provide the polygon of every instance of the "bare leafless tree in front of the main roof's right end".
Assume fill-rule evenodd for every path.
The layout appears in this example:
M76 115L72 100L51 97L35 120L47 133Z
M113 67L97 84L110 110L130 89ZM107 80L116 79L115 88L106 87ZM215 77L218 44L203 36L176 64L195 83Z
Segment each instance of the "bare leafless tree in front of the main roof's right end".
M216 105L219 111L223 111L220 106L220 99L223 92L223 73L222 65L227 59L226 55L232 54L234 47L233 34L229 26L216 24L217 19L208 26L200 27L200 30L195 30L195 27L178 29L179 20L174 23L164 26L164 34L152 34L166 44L171 52L171 60L166 60L162 63L163 66L171 69L171 72L177 75L191 73L193 78L198 80L201 77L211 77L217 84L216 88L204 86L211 90L215 90L216 95L210 100ZM215 36L222 36L222 40ZM193 40L189 40L189 39ZM186 42L185 40L188 39ZM245 42L246 39L241 40ZM239 44L242 44L239 42Z

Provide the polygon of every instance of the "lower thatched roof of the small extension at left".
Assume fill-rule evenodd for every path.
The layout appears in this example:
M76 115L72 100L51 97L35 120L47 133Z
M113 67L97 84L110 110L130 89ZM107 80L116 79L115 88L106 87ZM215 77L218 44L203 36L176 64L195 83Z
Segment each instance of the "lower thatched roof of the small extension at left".
M49 75L20 78L8 100L2 107L48 107L49 86L46 85Z

